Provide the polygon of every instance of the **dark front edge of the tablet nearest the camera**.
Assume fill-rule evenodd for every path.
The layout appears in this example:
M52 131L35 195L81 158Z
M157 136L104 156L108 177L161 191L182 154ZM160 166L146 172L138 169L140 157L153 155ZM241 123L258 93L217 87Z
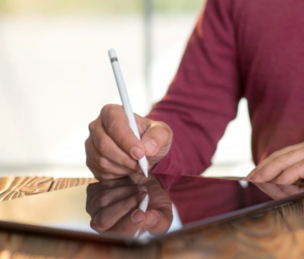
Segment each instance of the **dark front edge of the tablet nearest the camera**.
M38 194L39 195L39 194ZM81 232L76 230L59 229L54 227L39 226L33 224L24 224L11 221L0 220L0 228L9 233L38 235L52 238L64 238L68 240L78 240L94 243L107 243L113 245L126 245L126 246L142 246L151 243L160 243L164 240L180 236L192 231L199 231L206 227L215 224L224 223L240 217L253 215L256 213L264 212L265 210L273 209L290 204L300 198L304 198L304 193L288 196L280 200L266 201L257 205L246 208L237 209L232 212L227 212L221 215L213 216L207 219L202 219L196 222L187 223L183 228L174 230L170 233L162 234L159 236L149 237L147 239L133 239L131 237L123 236L121 234L105 232L100 235L94 233ZM9 201L6 201L9 202Z

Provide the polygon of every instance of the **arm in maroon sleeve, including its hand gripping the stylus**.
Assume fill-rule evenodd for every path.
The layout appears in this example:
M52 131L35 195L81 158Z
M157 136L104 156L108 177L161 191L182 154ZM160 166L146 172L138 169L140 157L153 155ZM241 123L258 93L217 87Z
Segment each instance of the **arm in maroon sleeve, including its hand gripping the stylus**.
M147 118L135 114L141 141L121 106L104 106L90 123L85 147L96 179L140 171L143 155L154 172L199 174L211 164L241 96L230 2L207 2L168 93Z

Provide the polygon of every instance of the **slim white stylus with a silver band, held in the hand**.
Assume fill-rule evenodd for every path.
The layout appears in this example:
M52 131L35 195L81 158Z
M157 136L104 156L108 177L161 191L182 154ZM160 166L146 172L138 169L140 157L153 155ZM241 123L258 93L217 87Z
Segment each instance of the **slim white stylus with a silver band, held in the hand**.
M130 99L128 96L125 82L123 80L123 74L121 72L121 69L120 69L120 66L118 63L116 51L114 49L109 50L109 57L110 57L110 61L112 64L114 76L116 79L116 84L118 87L120 99L121 99L121 102L123 103L123 109L125 110L125 113L128 117L130 128L132 129L134 135L140 140L140 135L139 135L139 131L138 131L138 128L136 125L136 121L135 121L135 117L134 117L133 110L131 107ZM147 163L146 156L143 156L143 158L139 159L138 163L140 165L140 168L143 170L143 173L145 174L145 176L148 177L148 163Z

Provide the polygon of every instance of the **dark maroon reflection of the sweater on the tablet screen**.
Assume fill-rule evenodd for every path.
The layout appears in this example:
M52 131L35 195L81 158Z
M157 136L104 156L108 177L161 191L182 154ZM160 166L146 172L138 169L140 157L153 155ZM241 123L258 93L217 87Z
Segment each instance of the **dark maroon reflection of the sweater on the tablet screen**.
M272 200L255 185L237 181L157 174L183 224Z

